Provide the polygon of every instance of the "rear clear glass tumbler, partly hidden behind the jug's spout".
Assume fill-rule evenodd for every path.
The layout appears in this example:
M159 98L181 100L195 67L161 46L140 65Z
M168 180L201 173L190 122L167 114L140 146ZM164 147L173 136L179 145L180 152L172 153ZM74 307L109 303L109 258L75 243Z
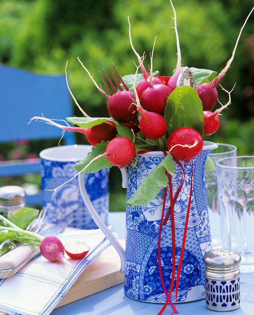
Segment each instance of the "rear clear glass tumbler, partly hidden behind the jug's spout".
M236 146L226 143L217 143L217 145L217 149L214 149L212 153L209 154L214 165L217 160L223 157L236 156ZM205 183L213 248L222 248L221 215L219 209L216 170L213 172L205 172Z

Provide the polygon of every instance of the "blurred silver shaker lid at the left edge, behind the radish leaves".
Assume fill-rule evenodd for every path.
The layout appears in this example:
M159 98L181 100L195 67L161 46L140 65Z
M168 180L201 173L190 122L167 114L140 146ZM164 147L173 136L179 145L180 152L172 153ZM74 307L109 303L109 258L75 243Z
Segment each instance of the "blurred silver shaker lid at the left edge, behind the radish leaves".
M20 186L0 187L0 206L24 206L26 192Z

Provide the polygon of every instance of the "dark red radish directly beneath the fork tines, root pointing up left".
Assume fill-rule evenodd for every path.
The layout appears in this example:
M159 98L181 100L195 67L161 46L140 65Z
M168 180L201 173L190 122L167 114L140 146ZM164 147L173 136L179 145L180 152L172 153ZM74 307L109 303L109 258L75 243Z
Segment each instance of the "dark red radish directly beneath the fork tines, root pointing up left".
M90 72L86 69L83 63L78 60L82 67L86 70L92 82L95 84L99 92L106 97L108 100L108 112L111 117L120 123L129 123L137 118L138 111L136 104L133 102L134 94L129 91L119 91L115 94L109 96L103 89L101 89L98 84L93 79Z

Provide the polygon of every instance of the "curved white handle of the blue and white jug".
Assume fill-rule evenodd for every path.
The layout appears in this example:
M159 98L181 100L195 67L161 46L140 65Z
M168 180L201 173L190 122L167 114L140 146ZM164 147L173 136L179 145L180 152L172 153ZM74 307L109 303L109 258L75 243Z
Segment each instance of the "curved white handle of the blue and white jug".
M105 236L109 239L110 243L115 247L116 251L118 252L120 259L121 259L121 272L125 270L125 251L112 232L108 229L106 224L102 221L101 217L98 215L96 209L94 208L90 198L88 197L86 187L85 187L85 180L84 174L80 174L78 176L78 184L80 189L80 194L83 199L86 208L88 209L90 215L92 216L94 222L97 226L101 229L101 231L105 234Z

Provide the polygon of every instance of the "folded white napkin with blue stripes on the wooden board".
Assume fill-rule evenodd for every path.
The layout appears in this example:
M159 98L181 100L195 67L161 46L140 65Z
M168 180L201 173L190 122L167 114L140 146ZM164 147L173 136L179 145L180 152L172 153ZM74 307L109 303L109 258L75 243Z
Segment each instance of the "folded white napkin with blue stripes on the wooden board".
M66 256L74 267L73 277L62 278L56 263L39 255L12 277L0 279L0 311L10 315L50 314L84 269L110 245L99 229L73 231L66 228L58 238L63 244L84 241L90 247L89 253L81 260ZM68 276L69 267L61 265L58 264L61 272Z

